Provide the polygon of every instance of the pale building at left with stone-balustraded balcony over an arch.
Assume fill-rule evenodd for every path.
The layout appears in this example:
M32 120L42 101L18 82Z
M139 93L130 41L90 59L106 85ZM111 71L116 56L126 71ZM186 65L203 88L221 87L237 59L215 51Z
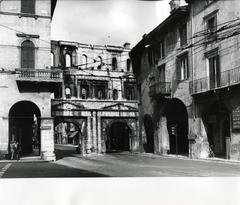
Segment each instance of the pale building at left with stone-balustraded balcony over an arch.
M18 141L22 155L55 160L51 92L51 19L56 0L0 1L0 154Z

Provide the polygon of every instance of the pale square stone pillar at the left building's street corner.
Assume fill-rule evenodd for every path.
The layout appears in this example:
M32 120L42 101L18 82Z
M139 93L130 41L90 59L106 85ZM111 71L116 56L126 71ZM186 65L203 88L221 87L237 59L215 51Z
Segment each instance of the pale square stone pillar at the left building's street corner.
M53 118L41 118L41 158L47 161L55 161Z

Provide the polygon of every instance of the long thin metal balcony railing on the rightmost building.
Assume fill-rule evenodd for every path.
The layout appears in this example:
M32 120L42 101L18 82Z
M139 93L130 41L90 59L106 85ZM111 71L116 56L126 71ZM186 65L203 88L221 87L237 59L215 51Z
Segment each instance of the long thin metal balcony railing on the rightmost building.
M240 67L221 72L219 77L212 80L209 77L200 78L190 82L190 93L197 94L235 85L240 82Z

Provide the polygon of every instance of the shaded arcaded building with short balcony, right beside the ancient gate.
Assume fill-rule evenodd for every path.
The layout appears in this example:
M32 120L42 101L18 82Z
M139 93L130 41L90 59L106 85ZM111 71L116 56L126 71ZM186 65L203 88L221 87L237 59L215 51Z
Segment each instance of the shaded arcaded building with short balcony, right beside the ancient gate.
M140 99L144 151L188 154L192 123L192 63L188 6L171 1L171 14L131 50Z

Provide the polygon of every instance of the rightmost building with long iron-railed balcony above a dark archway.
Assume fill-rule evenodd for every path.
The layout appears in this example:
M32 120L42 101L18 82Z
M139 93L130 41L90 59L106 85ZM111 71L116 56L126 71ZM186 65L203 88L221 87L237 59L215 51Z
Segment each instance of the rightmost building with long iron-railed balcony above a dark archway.
M195 135L211 155L239 160L240 2L187 2L192 20Z

